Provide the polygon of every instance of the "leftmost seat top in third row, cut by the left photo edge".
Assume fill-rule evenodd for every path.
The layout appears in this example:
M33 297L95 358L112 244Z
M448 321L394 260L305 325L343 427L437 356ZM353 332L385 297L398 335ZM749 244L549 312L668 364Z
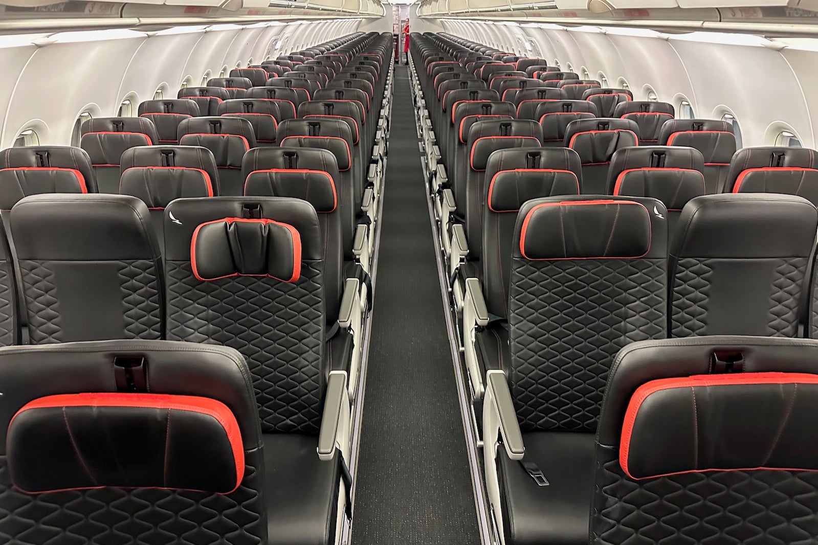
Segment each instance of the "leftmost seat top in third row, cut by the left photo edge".
M32 180L34 172L39 172L34 169L42 168L76 171L79 176L73 176L73 179L79 181L81 178L88 193L97 193L97 177L94 174L91 158L88 157L85 150L67 145L29 145L19 148L7 148L0 152L0 169L20 169L20 172L23 170L29 171L24 175L29 181ZM57 176L65 177L63 174ZM73 184L73 182L70 183ZM39 182L37 182L37 185L39 185ZM34 190L34 187L31 189ZM7 188L0 194L6 194L6 191L11 191L11 189ZM26 192L26 194L28 193ZM20 196L20 199L22 196ZM13 205L9 199L0 199L0 210L7 210L8 208L5 207L9 203Z

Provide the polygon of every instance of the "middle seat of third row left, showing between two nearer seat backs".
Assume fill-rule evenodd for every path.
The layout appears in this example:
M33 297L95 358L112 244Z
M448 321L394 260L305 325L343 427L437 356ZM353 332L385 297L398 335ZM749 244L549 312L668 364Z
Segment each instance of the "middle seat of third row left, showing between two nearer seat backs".
M122 154L119 194L142 200L164 254L164 209L174 199L218 196L218 169L210 150L195 145L150 145Z

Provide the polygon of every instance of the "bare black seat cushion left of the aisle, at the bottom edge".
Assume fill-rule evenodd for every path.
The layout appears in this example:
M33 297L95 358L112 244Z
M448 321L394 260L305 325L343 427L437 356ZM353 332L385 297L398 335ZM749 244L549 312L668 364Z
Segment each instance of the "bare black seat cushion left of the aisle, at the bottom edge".
M335 543L338 454L318 459L316 436L264 434L264 495L269 545Z

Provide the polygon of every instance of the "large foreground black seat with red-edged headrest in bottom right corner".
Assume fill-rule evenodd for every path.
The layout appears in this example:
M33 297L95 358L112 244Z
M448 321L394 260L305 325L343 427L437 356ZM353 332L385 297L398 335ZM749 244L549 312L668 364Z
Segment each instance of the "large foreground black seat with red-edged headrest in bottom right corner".
M816 356L815 341L758 337L622 349L596 437L590 542L811 541Z

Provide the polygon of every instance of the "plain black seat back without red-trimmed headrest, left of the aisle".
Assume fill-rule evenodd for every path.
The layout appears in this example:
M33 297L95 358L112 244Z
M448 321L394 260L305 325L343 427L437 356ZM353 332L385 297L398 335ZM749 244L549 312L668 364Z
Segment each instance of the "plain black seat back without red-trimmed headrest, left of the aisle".
M32 344L164 338L162 261L140 199L33 195L9 225Z

